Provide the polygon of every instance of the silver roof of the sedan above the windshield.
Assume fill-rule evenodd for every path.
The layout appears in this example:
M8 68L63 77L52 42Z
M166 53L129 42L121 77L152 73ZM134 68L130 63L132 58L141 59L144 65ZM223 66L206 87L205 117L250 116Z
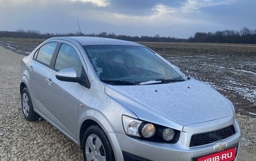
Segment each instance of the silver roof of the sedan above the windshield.
M67 40L70 42L76 41L81 45L128 45L128 46L144 47L144 45L134 43L134 42L128 42L125 40L99 38L99 37L91 37L91 36L67 36L67 37L54 37L51 39Z

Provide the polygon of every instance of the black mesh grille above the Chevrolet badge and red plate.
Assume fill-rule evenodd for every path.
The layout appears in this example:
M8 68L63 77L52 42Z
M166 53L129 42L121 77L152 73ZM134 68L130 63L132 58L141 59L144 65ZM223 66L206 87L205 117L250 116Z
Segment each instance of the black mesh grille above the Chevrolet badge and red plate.
M212 142L226 139L235 134L234 126L228 126L217 131L196 134L191 137L190 147L210 144Z

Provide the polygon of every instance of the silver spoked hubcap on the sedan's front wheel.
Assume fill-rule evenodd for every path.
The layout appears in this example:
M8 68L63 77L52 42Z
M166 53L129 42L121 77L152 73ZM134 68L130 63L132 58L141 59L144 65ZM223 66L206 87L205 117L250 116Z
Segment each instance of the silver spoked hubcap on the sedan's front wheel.
M85 142L85 155L87 161L106 161L105 149L97 135L91 134Z

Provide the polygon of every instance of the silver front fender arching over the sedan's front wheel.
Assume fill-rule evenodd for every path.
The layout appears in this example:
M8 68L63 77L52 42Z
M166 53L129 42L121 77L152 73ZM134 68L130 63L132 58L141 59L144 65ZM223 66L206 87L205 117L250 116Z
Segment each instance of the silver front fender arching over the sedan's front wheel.
M118 143L116 134L124 134L122 126L122 115L138 118L124 105L118 103L115 99L108 96L105 91L105 85L100 81L91 82L91 88L84 88L78 104L77 113L77 142L80 144L80 130L85 121L92 120L96 122L108 137L112 145L115 157L122 160L122 151ZM81 134L83 135L83 134Z

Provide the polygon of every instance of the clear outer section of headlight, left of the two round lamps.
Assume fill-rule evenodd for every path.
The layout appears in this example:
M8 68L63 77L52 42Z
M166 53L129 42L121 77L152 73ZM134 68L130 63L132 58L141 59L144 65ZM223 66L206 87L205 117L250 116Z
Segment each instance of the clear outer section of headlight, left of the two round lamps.
M142 121L139 121L138 119L131 118L128 116L122 116L122 123L124 126L125 133L127 135L140 137L138 130Z

